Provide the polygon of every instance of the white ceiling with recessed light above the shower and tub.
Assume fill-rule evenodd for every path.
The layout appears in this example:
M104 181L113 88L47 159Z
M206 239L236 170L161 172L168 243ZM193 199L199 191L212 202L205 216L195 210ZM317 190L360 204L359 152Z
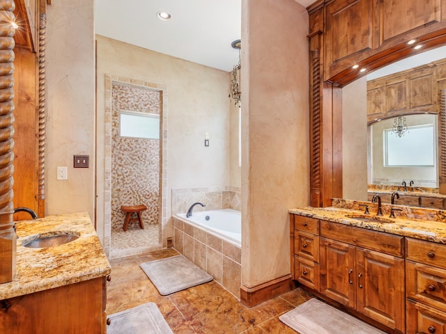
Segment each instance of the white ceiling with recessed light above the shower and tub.
M229 72L238 63L231 42L240 39L241 1L95 0L95 33ZM160 10L171 19L158 19Z

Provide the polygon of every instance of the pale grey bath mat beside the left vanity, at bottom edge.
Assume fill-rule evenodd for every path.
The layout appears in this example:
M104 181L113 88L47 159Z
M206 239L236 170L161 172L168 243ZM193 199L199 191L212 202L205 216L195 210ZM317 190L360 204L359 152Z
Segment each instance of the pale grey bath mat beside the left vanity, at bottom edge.
M174 334L155 303L146 303L113 315L107 334Z

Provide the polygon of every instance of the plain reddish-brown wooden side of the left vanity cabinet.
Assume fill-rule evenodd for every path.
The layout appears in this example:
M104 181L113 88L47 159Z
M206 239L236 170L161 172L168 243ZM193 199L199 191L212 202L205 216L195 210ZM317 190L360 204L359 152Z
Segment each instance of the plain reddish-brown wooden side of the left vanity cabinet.
M0 301L0 333L105 334L105 284L94 278Z

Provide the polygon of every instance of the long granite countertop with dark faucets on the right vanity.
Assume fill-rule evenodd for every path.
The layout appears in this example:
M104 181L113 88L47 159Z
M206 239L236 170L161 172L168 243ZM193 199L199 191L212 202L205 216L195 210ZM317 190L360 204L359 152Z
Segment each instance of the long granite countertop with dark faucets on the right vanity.
M411 237L426 241L433 241L439 244L446 244L446 223L443 221L429 221L415 218L389 218L388 215L383 216L383 220L388 223L361 221L358 218L350 218L348 215L357 215L374 218L376 215L371 212L364 215L363 211L353 209L344 209L339 207L302 207L290 209L291 214L300 214L302 216L323 219L325 221L333 221L345 225L355 226L357 228L367 228L368 230L387 232L401 235L403 237Z

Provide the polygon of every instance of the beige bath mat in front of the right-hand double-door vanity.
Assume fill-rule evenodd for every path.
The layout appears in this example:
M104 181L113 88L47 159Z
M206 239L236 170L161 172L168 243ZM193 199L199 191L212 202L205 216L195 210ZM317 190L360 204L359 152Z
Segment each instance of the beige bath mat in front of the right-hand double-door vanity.
M385 334L318 299L306 301L279 319L300 334Z

